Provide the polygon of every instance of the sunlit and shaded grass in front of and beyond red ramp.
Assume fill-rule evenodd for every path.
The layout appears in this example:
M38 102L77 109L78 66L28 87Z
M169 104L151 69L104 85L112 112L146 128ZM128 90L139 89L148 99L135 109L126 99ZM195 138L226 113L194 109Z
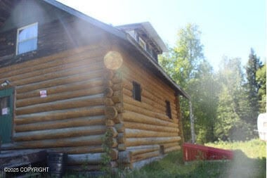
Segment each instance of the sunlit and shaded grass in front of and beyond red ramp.
M234 151L233 160L222 161L202 161L197 160L193 163L183 163L183 153L176 151L169 153L159 161L145 165L140 170L129 172L119 172L120 175L113 177L123 178L206 178L206 177L266 177L266 144L264 141L254 139L251 141L223 142L219 141L207 146L216 148L226 148Z

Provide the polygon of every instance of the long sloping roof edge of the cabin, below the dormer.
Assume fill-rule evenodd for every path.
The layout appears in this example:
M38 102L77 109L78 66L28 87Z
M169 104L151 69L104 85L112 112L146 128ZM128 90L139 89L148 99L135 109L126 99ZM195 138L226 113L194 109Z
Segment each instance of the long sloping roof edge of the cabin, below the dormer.
M81 13L74 8L70 8L69 6L66 6L65 4L62 4L55 0L42 0L46 2L47 4L51 4L52 6L59 8L62 11L65 11L71 15L76 16L77 18L80 18L82 20L85 20L88 23L91 23L92 25L95 25L96 27L99 27L102 30L105 30L106 32L109 32L110 34L114 34L115 36L119 37L120 39L123 39L126 42L131 43L133 46L136 46L138 51L143 53L144 56L148 59L148 63L152 65L153 68L159 72L161 77L176 91L178 91L179 94L184 96L185 98L190 99L190 96L186 94L181 87L178 86L173 80L171 80L171 77L164 72L164 70L159 66L158 63L156 63L150 56L148 56L143 49L141 49L140 46L136 43L136 41L129 35L126 34L126 32L123 32L122 30L117 29L116 27L112 27L110 25L107 25L105 23L100 22L99 20L96 20L95 18L91 18L88 15L85 15L84 13ZM8 16L10 15L11 9L13 8L14 4L16 4L18 0L0 0L0 27L4 24L4 21ZM152 27L152 26L151 26ZM154 29L153 29L154 30ZM155 31L155 30L154 30Z

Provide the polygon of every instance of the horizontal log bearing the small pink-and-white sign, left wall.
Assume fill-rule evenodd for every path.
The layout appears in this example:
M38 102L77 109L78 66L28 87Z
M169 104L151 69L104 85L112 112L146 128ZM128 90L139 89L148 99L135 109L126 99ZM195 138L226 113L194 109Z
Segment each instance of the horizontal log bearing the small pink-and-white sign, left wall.
M103 87L104 81L102 77L93 78L91 80L82 80L82 82L72 82L70 84L61 84L57 85L56 87L46 87L46 91L48 93L48 96L55 96L53 94L64 94L66 92L70 91L77 91L80 89L94 89L96 87ZM99 91L99 90L97 90ZM18 101L21 101L24 98L32 98L34 97L39 98L40 97L40 90L34 90L22 94L17 94L16 98ZM46 99L46 98L43 98Z

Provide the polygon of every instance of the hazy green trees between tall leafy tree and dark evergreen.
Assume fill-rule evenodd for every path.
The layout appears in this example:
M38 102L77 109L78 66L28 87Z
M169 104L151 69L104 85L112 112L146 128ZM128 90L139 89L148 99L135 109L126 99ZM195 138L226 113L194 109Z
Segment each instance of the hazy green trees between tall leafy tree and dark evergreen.
M216 137L222 140L245 140L253 136L247 122L249 101L245 90L240 58L224 57L218 74L221 86L216 118Z

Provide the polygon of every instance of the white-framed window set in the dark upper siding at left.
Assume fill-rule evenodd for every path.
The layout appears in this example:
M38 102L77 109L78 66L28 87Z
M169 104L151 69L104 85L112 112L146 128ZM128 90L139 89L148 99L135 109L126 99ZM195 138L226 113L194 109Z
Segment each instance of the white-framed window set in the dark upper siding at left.
M37 49L38 23L21 27L17 32L16 54L27 53Z

